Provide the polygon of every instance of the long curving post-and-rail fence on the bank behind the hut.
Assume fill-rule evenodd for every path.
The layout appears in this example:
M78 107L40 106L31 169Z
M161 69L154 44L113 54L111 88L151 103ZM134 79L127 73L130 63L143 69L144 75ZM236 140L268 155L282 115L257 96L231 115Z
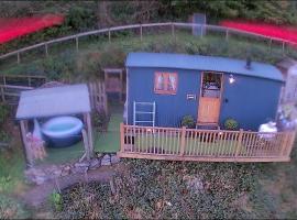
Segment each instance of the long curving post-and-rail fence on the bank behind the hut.
M72 42L73 41L73 42L75 42L76 51L79 51L79 38L80 37L102 34L102 35L107 35L108 41L110 42L111 41L111 33L117 32L117 31L136 30L136 32L140 35L140 40L142 41L144 30L148 29L148 28L167 28L173 36L175 36L176 29L179 28L179 29L190 29L190 30L202 29L204 33L208 33L208 32L223 33L226 41L229 40L231 34L240 35L240 36L248 36L248 37L256 37L256 38L267 41L267 46L270 48L272 47L273 42L279 43L284 55L285 55L285 50L287 46L293 46L293 45L296 46L297 45L297 43L295 43L295 42L285 41L285 40L277 38L277 37L268 37L265 35L254 34L254 33L250 33L250 32L245 32L245 31L239 31L239 30L231 29L231 28L208 25L208 24L165 22L165 23L148 23L148 24L133 24L133 25L124 25L124 26L114 26L114 28L109 28L109 29L95 30L95 31L84 32L84 33L79 33L79 34L75 34L75 35L64 36L61 38L55 38L55 40L38 43L38 44L32 45L32 46L23 47L21 50L13 51L13 52L10 52L8 54L3 54L0 56L0 61L8 58L8 57L11 57L11 56L15 56L16 63L20 64L22 53L33 51L36 48L41 48L43 51L44 55L48 56L50 46L55 44L55 43L59 43L59 42L68 42L68 41ZM201 37L202 36L204 35L201 35Z

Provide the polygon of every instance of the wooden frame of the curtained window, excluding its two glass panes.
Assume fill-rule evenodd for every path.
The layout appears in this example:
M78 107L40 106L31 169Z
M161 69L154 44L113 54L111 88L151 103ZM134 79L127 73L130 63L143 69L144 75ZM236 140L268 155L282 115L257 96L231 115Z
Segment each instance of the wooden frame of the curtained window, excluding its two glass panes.
M164 89L157 89L157 79L158 76L162 75L164 77ZM174 90L168 90L168 84L169 84L169 77L174 76L175 77L175 89ZM178 75L177 73L167 73L167 72L155 72L154 75L154 92L160 94L160 95L176 95L177 92L177 86L178 86Z

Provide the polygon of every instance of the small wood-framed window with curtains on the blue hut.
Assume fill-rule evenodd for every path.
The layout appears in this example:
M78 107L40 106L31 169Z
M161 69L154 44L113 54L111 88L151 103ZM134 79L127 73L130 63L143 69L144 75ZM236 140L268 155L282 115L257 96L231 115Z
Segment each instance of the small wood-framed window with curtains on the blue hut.
M155 73L155 92L175 95L177 89L176 73Z

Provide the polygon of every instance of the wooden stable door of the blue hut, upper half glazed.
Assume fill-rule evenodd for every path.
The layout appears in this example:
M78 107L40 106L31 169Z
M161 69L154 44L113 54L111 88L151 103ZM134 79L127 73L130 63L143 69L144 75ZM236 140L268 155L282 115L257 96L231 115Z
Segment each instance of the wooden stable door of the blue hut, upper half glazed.
M219 122L222 90L221 81L222 74L202 74L197 123Z

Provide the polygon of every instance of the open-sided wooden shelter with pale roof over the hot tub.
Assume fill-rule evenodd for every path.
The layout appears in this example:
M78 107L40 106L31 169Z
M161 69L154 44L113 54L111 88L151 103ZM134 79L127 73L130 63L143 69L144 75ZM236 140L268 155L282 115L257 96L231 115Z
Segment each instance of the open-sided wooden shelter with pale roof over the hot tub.
M22 91L16 111L16 120L20 121L26 165L31 167L34 162L26 138L29 133L28 122L34 119L58 116L82 116L85 124L82 129L85 154L81 158L89 160L94 152L90 112L89 91L85 84Z

